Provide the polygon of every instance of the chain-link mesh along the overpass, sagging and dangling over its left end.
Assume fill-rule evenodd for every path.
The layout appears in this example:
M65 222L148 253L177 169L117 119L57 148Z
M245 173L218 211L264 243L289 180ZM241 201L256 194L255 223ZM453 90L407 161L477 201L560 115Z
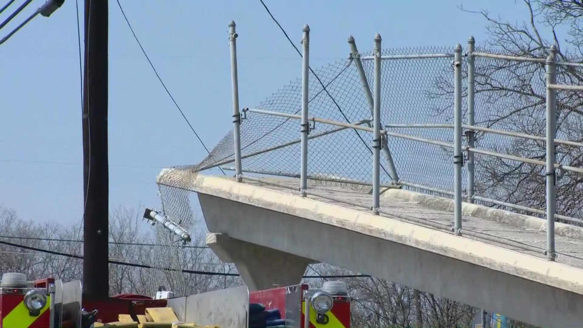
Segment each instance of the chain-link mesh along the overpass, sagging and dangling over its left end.
M454 197L457 161L462 163L458 194L463 200L545 217L548 50L530 58L483 48L458 48L458 57L454 47L354 51L308 74L308 177L374 186L371 95L375 56L380 55L380 121L385 150L391 155L381 153L383 186ZM557 83L582 84L580 66L555 66ZM454 79L454 73L459 78ZM456 90L455 81L460 80ZM576 205L582 193L577 172L583 145L582 95L581 90L557 91L556 218L570 223L580 222L577 217L582 216ZM302 104L302 81L297 79L258 106L234 114L234 123L240 124L242 172L300 177ZM461 124L455 121L456 110ZM454 156L456 131L462 138L459 160ZM166 215L185 228L192 225L188 190L196 173L217 166L237 170L233 137L229 132L198 165L174 168L159 177ZM467 165L472 159L475 170ZM160 231L159 242L172 245L164 233ZM169 250L174 252L172 247L164 252ZM170 257L178 263L180 250L176 252L159 254L160 263Z

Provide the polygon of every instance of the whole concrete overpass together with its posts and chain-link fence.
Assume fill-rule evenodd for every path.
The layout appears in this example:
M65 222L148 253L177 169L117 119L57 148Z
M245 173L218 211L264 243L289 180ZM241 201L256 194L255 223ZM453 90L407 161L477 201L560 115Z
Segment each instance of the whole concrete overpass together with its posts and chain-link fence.
M547 58L477 52L473 37L466 52L461 44L397 50L383 49L376 34L372 52L359 53L349 37L349 56L313 71L310 28L302 32L301 80L241 109L238 34L230 22L233 130L202 162L161 173L158 183L174 188L161 193L170 215L188 214L184 191L196 192L208 245L236 264L251 289L297 284L307 264L321 261L537 326L581 326L583 228L555 221L583 222L557 212L577 204L557 189L573 195L583 174L577 160L557 153L583 143L557 139L573 131L553 120L558 108L580 106L557 90L583 90L556 84L571 81L557 79L570 70L556 67L580 64L557 61L554 46ZM545 75L517 77L517 65L508 63L532 72L545 65ZM525 95L524 83L546 93ZM525 109L536 124L546 122L544 136L525 128ZM230 163L236 180L200 174ZM318 175L329 182L307 182ZM339 177L353 184L332 183ZM539 208L507 203L516 193L519 203L535 198Z

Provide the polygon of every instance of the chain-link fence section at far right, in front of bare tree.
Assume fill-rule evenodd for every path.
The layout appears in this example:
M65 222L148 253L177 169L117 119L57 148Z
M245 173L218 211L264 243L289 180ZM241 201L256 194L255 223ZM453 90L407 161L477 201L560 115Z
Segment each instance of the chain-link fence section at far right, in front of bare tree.
M486 54L504 55L496 51L478 50ZM511 58L476 57L475 103L476 124L495 130L512 131L538 139L514 137L478 131L476 146L498 153L521 158L546 160L546 68L548 52L541 51L533 61ZM537 61L534 61L537 60ZM559 63L560 64L560 63ZM581 67L556 65L557 83L581 84ZM583 140L581 92L557 92L556 139ZM556 143L556 162L560 165L580 167L577 158L581 148L576 145ZM580 209L574 206L579 196L580 173L557 171L557 213L581 218ZM564 173L564 175L563 175ZM577 177L578 176L578 177ZM544 166L517 160L476 156L476 194L508 204L521 205L533 211L524 212L544 217L546 209L546 169ZM491 203L490 203L491 204ZM573 222L571 222L573 223Z

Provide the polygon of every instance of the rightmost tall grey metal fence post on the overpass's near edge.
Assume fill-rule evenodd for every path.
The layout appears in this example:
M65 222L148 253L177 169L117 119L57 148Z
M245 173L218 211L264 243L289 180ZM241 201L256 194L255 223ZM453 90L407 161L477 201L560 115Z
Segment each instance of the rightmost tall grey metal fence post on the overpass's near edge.
M557 48L551 46L549 57L546 60L546 215L547 215L547 259L554 261L557 254L554 249L554 214L556 212L556 175L554 164L556 161L554 137L556 134L557 95L549 84L557 82L555 62Z

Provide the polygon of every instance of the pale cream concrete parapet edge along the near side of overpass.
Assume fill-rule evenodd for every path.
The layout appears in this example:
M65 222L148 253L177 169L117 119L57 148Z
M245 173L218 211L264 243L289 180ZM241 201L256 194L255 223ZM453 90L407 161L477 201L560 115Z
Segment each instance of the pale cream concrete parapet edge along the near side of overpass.
M187 181L191 185L182 186L187 190L350 229L583 295L583 270L580 268L291 192L238 183L225 177L201 174L192 177L191 173L182 171L173 172L172 180L184 183L182 174L189 175ZM168 180L166 183L172 185Z

